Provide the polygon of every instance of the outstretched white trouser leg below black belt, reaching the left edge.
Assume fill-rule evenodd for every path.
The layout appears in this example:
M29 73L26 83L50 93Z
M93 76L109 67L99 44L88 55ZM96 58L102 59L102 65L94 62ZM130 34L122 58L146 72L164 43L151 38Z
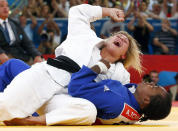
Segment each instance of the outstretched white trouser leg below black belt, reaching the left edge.
M32 66L0 93L0 121L31 115L61 89L63 87L51 79L44 64Z

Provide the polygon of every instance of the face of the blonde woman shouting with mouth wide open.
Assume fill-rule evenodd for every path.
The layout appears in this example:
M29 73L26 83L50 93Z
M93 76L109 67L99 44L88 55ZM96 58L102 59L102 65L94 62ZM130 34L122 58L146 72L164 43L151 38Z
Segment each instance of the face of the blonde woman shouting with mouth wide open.
M117 34L106 40L105 47L101 51L102 58L114 63L123 60L129 47L129 40L123 34Z

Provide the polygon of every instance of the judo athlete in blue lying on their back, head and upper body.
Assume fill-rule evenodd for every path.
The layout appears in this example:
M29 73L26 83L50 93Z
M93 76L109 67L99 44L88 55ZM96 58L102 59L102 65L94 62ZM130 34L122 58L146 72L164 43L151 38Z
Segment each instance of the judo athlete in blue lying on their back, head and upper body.
M102 72L97 66L91 69L83 66L79 72L74 73L68 90L71 96L94 103L98 124L159 120L169 114L171 99L162 87L148 83L122 85L111 79L95 82L95 78Z

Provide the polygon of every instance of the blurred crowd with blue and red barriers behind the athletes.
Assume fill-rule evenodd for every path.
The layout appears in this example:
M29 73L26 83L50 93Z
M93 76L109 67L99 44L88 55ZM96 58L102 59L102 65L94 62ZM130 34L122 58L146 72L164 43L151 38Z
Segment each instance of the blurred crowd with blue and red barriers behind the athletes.
M69 8L79 4L120 8L125 21L104 18L92 23L97 36L125 30L140 44L144 74L130 69L131 82L154 80L178 100L178 0L8 0L10 16L19 22L44 58L67 35Z

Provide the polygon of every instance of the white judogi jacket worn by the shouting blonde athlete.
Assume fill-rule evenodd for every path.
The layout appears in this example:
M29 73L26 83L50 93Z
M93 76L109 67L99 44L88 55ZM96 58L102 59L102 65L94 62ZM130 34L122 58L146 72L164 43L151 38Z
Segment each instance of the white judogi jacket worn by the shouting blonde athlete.
M99 43L103 40L97 37L90 28L90 23L102 18L102 8L87 4L72 7L69 11L67 39L55 50L56 56L65 55L73 59L80 66L93 66L101 59ZM69 82L69 73L60 71L64 79L60 80L61 73L56 68L47 65L47 69L55 81L66 86ZM122 84L130 82L130 74L123 64L112 64L107 75L99 75L98 80L111 78Z

